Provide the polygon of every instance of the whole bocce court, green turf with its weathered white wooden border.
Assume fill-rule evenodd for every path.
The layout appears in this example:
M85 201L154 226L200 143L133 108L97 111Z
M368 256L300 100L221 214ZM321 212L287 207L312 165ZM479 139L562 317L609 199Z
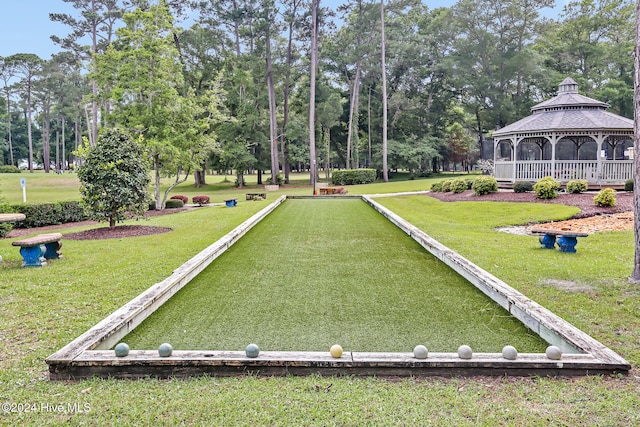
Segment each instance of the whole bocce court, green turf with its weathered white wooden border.
M50 377L628 371L374 198L282 196L50 356ZM121 341L131 351L116 357ZM162 343L171 356L159 356ZM258 357L245 354L249 343ZM419 344L426 359L414 357ZM560 360L546 357L550 344ZM471 359L458 357L461 345ZM515 360L502 357L507 345Z

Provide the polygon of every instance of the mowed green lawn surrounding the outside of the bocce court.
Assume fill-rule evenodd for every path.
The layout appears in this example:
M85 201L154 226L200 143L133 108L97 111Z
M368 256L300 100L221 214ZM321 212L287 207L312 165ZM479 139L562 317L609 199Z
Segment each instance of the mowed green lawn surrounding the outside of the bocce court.
M7 176L18 183L20 195L19 177L4 174L2 196L9 198ZM407 185L413 188L416 182ZM381 187L371 193L387 188L376 185ZM388 188L400 187L391 183ZM38 201L57 197L56 188L43 191ZM503 235L491 227L561 219L571 215L571 208L545 205L544 212L535 213L529 205L496 203L489 215L482 205L415 199L380 201L619 352L632 363L631 373L576 379L47 379L48 355L267 203L241 198L234 209L204 208L148 221L172 227L168 234L64 240L65 258L42 269L20 268L17 249L0 239L7 260L0 264L0 401L8 404L0 425L639 425L640 287L626 282L633 234L589 236L573 255L542 251L533 237ZM523 213L526 218L513 218ZM79 230L63 232L73 231ZM270 250L269 243L254 250ZM275 256L283 251L278 248ZM580 286L559 288L554 280ZM68 406L75 403L85 412Z

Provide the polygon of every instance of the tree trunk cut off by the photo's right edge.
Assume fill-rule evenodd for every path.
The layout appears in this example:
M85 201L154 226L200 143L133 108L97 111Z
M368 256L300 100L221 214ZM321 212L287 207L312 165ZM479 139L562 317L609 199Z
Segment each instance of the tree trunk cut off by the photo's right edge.
M633 273L629 281L640 284L640 0L636 1L636 45L634 49L634 94L633 94L633 229L635 256Z

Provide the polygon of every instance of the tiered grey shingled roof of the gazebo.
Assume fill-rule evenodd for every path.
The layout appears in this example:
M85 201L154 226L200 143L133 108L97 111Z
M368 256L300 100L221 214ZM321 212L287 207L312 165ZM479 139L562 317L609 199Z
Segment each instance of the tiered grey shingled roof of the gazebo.
M496 137L529 132L633 130L633 120L606 111L609 104L578 93L578 84L567 77L558 95L531 108L532 114L498 129Z

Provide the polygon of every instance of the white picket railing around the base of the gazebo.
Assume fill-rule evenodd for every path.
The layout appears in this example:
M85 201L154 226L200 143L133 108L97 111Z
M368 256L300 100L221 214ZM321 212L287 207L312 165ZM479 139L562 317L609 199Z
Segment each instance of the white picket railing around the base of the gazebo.
M515 173L515 175L514 175ZM584 179L589 183L624 184L633 177L633 160L496 161L494 177L499 181L537 181L553 176L560 182Z

